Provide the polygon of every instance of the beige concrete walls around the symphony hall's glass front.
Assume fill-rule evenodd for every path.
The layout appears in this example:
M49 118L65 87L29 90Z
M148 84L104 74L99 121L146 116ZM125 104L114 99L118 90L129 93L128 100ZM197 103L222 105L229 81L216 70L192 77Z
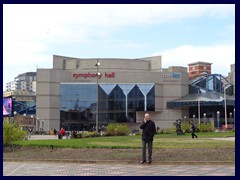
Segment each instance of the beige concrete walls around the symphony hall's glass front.
M139 59L81 59L53 56L52 69L37 69L36 116L44 120L44 130L60 128L60 83L154 83L155 111L152 119L160 128L168 128L176 119L188 116L188 111L173 110L166 102L188 94L188 73L185 67L162 69L161 56ZM145 112L136 112L136 125Z

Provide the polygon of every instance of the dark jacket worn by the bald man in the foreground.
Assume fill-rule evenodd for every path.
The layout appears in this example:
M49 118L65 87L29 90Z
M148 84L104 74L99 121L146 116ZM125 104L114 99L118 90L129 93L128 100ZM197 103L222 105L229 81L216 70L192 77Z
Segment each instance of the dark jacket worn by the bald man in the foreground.
M140 126L143 130L142 140L143 141L153 141L153 136L156 134L156 126L152 120L143 122Z

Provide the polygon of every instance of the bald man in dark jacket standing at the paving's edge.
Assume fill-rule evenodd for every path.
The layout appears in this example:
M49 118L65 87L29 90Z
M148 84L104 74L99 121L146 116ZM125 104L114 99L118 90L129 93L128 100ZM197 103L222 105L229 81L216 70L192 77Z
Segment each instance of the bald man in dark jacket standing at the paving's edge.
M153 137L156 134L155 123L150 119L150 115L146 113L144 115L144 121L141 124L140 128L142 131L142 162L146 162L146 144L148 145L148 164L152 162L152 143Z

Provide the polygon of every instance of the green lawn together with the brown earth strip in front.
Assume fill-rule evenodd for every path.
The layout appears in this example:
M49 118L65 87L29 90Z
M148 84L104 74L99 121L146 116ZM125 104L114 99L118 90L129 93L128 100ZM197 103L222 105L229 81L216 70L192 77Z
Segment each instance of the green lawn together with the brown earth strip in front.
M214 140L235 136L234 132L157 134L153 144L155 162L235 162L235 142ZM114 160L141 161L141 136L95 137L82 139L22 140L15 151L3 153L4 159L21 160ZM49 147L53 145L53 150Z

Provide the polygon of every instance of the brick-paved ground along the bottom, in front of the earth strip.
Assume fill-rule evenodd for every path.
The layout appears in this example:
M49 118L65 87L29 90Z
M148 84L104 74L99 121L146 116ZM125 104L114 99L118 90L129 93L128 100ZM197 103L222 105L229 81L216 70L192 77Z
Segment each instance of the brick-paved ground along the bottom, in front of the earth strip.
M234 165L3 162L4 176L235 176Z

